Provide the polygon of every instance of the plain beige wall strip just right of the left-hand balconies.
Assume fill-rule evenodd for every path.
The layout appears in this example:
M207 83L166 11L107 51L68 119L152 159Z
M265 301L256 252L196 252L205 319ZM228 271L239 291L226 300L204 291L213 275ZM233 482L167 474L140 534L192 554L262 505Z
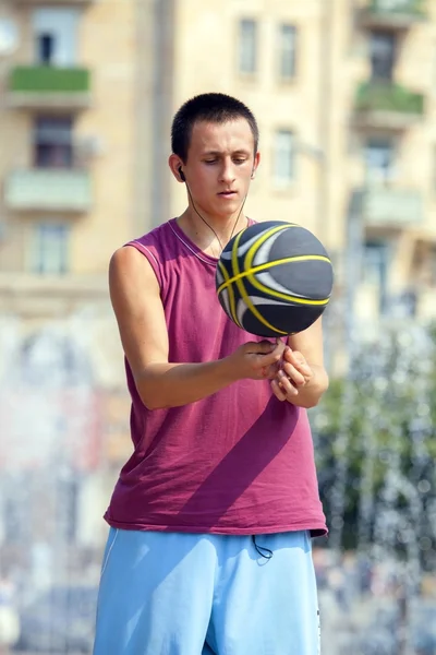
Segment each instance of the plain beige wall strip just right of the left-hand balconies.
M109 254L134 225L135 2L97 2L84 15L82 61L93 72L93 106L77 121L77 136L95 138L89 163L94 206L77 222L72 242L76 273L107 270Z

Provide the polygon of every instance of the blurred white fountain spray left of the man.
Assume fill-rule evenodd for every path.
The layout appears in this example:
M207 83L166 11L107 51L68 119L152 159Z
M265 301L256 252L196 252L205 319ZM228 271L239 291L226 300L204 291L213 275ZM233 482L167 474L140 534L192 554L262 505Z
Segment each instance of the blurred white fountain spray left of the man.
M23 652L90 648L108 498L106 321L93 310L41 326L0 320L0 606L12 590Z

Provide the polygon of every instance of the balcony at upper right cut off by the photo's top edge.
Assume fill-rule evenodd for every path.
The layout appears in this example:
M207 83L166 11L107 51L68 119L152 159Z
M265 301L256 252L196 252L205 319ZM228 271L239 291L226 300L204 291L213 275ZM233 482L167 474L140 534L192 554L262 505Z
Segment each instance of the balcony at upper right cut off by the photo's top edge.
M370 0L360 15L368 29L408 29L426 17L426 0Z

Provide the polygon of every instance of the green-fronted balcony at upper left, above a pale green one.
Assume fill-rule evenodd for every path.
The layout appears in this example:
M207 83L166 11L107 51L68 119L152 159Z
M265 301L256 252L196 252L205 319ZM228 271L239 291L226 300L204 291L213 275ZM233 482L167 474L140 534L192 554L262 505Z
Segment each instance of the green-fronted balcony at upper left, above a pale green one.
M7 104L34 110L80 110L90 106L90 73L84 68L19 66L12 69Z

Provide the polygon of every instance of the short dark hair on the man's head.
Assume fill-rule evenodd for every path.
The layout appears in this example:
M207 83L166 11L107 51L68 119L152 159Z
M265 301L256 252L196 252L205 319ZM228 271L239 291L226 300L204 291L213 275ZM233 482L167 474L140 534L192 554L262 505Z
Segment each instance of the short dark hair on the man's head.
M223 93L204 93L191 98L180 107L172 121L171 148L173 154L186 163L192 129L195 123L205 121L221 124L239 118L245 118L250 124L256 153L259 139L258 127L253 112L246 105Z

